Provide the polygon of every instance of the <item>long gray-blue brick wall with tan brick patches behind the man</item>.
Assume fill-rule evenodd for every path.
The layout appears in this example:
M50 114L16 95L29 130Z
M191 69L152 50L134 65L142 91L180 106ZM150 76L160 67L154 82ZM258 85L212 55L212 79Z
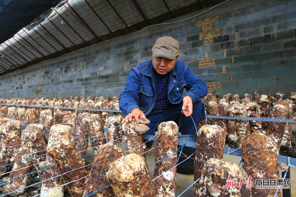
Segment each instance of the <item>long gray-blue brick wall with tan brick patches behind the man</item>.
M150 60L155 40L166 35L179 41L179 59L210 92L296 92L296 1L231 0L185 22L145 28L0 76L0 97L119 95L131 68Z

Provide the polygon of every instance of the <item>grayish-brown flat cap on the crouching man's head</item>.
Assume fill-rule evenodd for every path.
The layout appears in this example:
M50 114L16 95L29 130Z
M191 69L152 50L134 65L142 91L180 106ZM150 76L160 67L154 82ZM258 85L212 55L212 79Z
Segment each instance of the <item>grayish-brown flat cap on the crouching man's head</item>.
M179 43L170 36L158 38L152 47L152 55L175 59L179 55Z

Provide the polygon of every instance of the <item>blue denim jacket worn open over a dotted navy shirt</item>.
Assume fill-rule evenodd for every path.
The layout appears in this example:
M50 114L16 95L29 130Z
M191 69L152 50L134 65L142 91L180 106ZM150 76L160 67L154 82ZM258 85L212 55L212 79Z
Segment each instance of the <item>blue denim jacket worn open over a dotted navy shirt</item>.
M123 116L133 109L140 108L148 115L154 108L156 101L155 76L152 60L139 64L132 68L127 77L125 90L120 93L119 107ZM177 61L169 74L168 99L172 104L180 103L185 96L190 96L192 102L200 101L207 95L207 85L182 61Z

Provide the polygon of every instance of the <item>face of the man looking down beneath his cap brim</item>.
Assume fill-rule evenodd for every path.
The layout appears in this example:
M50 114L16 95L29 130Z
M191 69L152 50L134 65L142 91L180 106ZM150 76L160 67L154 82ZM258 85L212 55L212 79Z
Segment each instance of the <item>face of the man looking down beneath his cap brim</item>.
M175 67L177 62L177 58L175 59L168 59L166 57L155 57L152 56L152 64L155 71L160 75L165 75L169 73Z

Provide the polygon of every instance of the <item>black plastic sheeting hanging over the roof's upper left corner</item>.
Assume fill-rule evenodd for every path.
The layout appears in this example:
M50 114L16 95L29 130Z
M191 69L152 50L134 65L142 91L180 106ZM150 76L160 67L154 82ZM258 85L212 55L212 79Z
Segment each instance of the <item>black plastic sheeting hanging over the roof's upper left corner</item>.
M60 1L0 0L0 43L12 38L19 30Z

